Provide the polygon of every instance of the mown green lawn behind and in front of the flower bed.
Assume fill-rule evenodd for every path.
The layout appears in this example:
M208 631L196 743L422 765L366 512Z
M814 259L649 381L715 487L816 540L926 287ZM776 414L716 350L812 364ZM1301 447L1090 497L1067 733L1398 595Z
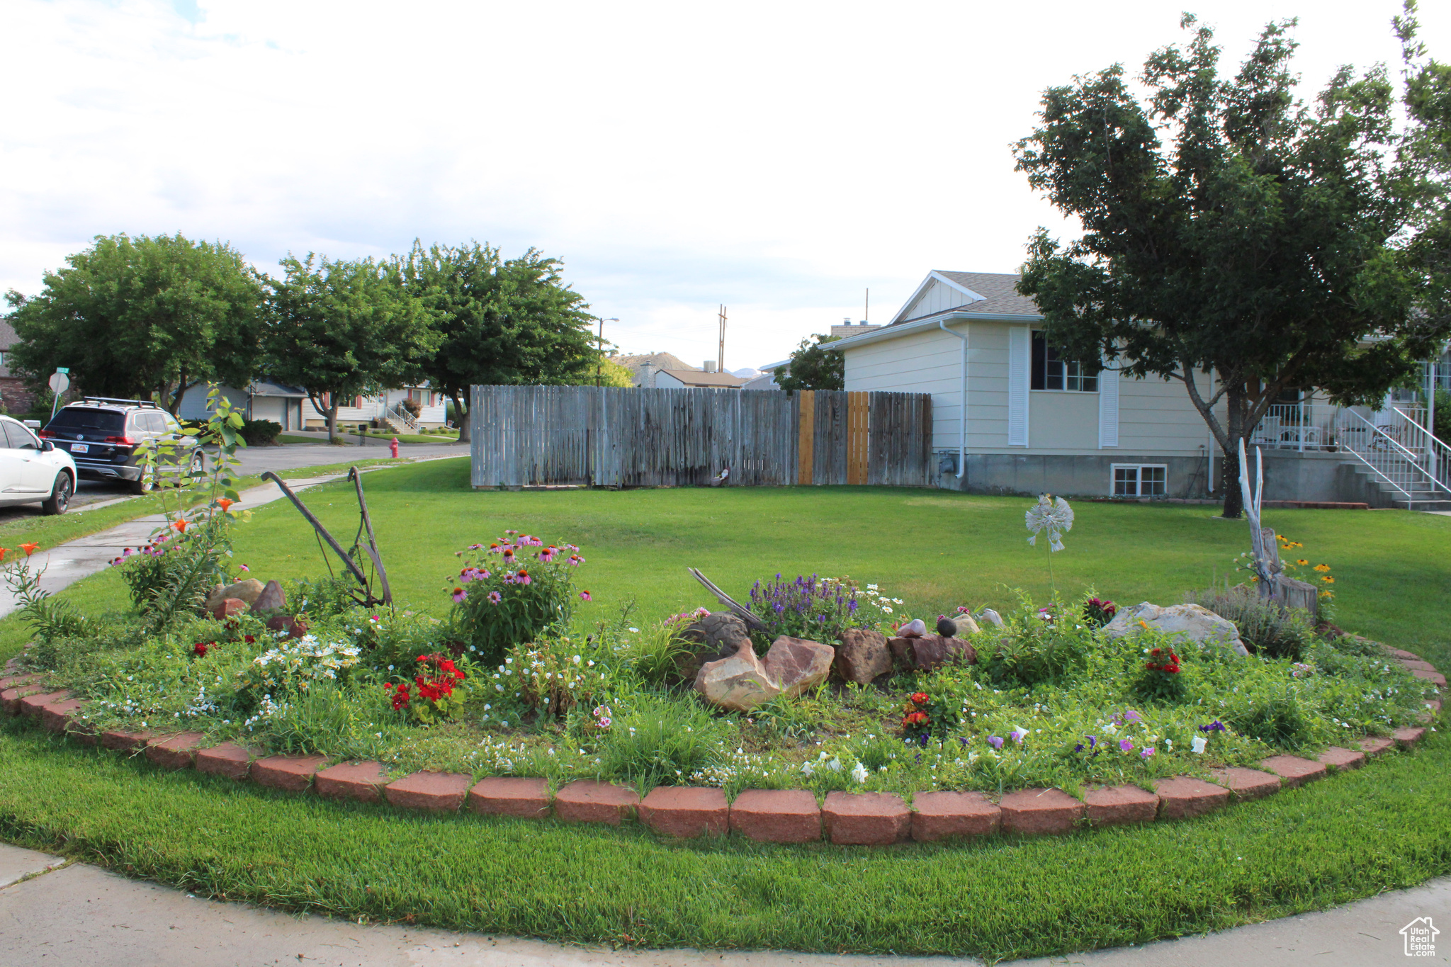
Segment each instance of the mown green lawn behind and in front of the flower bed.
M312 473L312 471L309 471ZM453 551L505 528L580 545L586 606L636 599L641 618L711 605L685 573L727 592L762 577L850 574L916 615L1007 605L1048 590L1022 497L868 487L498 493L467 487L467 460L364 478L395 593L443 613ZM305 496L335 534L351 491ZM1059 590L1174 603L1232 568L1244 522L1203 506L1080 503ZM1267 523L1335 570L1338 623L1451 664L1445 541L1451 519L1405 512L1274 510ZM254 576L321 568L290 506L237 532ZM115 574L67 592L118 607ZM0 657L23 641L0 622ZM1191 822L1052 839L892 850L670 844L637 828L566 828L273 794L167 774L0 726L0 835L205 895L357 919L570 941L813 951L1055 954L1219 929L1421 883L1451 871L1451 751L1413 754ZM683 902L688 900L688 902Z

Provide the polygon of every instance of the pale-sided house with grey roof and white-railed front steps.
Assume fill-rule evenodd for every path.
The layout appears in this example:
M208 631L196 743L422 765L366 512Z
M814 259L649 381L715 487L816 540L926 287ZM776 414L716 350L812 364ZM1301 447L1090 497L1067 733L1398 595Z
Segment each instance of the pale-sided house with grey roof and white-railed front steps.
M943 487L1122 497L1219 490L1217 444L1183 383L1059 360L1043 338L1042 313L1017 294L1017 281L1011 274L929 273L888 325L833 344L844 357L846 389L932 393ZM1210 377L1196 378L1209 397ZM1386 412L1397 422L1397 439L1425 433L1412 419L1423 410ZM1397 477L1415 477L1415 467L1373 468L1376 454L1396 444L1378 436L1367 416L1313 394L1287 394L1251 441L1251 452L1255 442L1265 448L1265 497L1380 506L1405 503L1405 494L1451 497L1445 487L1416 490L1436 491L1438 484ZM1402 496L1390 493L1396 487Z

